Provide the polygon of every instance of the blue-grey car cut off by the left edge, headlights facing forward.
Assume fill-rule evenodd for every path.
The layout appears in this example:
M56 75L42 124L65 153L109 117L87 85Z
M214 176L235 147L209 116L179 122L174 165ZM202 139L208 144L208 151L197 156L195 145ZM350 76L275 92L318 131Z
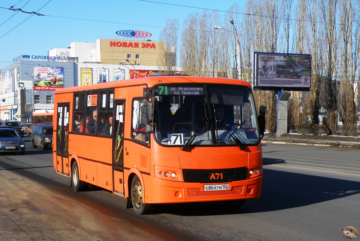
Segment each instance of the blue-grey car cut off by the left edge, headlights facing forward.
M25 154L25 142L13 128L0 128L0 153Z

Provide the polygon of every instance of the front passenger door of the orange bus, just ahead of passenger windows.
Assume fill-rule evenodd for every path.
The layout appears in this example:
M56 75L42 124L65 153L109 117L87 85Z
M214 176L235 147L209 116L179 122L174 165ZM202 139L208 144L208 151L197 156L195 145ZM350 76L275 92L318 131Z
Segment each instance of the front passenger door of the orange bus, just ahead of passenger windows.
M113 192L125 197L124 194L124 120L125 101L114 101L112 134L113 147ZM112 133L112 131L114 133Z

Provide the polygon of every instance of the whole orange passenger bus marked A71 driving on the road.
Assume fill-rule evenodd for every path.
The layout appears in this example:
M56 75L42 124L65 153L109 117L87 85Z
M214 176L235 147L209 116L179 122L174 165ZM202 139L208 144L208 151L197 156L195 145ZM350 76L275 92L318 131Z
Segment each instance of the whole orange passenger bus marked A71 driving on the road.
M54 168L80 191L93 184L151 204L259 198L260 139L246 81L154 76L55 90Z

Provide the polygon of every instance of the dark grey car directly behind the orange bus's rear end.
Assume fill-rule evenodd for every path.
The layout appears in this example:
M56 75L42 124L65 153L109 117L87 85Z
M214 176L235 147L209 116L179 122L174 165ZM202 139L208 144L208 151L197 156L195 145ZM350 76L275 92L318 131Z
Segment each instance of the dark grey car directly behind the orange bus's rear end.
M33 148L41 146L41 149L43 150L52 147L53 125L43 124L35 126L32 131L31 143Z

